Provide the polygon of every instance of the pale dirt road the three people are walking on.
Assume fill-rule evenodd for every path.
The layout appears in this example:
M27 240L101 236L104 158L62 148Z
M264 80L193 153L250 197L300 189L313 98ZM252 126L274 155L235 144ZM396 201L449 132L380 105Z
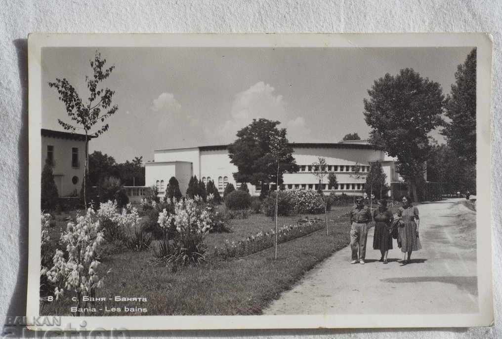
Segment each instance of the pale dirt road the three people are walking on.
M350 247L336 252L268 307L264 314L424 314L477 311L475 212L461 199L421 204L420 240L412 263L401 266L394 240L391 262L378 261L373 229L366 264L350 262Z

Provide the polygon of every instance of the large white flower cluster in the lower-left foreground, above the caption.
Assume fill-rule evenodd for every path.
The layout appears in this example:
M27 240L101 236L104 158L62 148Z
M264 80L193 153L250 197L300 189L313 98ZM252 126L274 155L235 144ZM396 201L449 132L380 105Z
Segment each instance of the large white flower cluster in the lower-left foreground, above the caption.
M61 250L56 249L53 267L43 267L41 270L41 274L56 285L56 300L65 290L88 295L92 289L102 286L103 278L96 274L99 261L95 260L96 250L103 241L103 233L98 229L99 219L94 210L89 208L85 216L77 215L75 223L69 222L66 231L61 234L68 259L64 258Z

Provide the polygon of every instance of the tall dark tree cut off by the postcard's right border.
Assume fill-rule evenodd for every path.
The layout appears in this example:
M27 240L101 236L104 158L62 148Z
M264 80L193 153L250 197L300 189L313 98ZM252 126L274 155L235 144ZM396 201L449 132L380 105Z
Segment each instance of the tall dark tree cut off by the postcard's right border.
M446 97L445 115L451 119L443 135L462 159L476 162L476 49L455 72L455 84Z

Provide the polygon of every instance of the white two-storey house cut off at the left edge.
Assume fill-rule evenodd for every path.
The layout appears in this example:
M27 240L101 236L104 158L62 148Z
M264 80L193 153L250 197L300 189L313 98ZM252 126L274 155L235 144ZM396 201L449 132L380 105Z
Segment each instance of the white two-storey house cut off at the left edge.
M59 196L78 195L84 179L85 135L43 128L41 134L42 166L49 159Z

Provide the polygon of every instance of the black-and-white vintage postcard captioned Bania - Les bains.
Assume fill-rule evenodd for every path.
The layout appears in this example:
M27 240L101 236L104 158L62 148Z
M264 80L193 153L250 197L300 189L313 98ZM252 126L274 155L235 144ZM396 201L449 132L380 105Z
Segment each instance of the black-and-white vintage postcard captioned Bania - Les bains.
M487 34L32 34L32 329L493 323Z

